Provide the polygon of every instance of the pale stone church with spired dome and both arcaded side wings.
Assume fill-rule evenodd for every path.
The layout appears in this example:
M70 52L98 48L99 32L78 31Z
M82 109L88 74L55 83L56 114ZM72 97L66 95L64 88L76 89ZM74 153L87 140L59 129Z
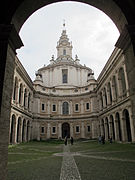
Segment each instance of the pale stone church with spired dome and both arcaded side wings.
M11 102L10 143L29 140L96 139L135 142L135 122L122 50L115 48L97 80L93 70L72 57L62 31L57 58L32 82L16 57Z

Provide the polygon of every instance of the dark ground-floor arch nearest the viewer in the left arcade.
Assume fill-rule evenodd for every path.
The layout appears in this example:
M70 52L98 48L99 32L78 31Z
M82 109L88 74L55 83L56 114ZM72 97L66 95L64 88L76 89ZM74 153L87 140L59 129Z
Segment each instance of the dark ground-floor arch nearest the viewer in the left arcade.
M10 143L15 144L16 143L16 116L13 114L11 116L11 127L10 127Z

